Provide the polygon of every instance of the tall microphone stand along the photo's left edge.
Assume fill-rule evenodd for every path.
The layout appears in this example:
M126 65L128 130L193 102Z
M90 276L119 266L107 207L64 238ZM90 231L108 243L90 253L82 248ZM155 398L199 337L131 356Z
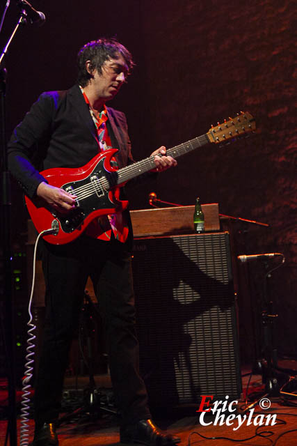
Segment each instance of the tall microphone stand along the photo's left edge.
M6 8L7 9L7 8ZM5 12L6 13L6 10ZM11 247L10 247L10 175L8 172L8 160L6 152L6 75L7 71L4 66L4 58L8 52L8 47L12 42L19 26L26 24L26 11L22 10L17 21L17 25L12 35L8 39L8 43L3 49L0 56L0 215L1 215L1 245L3 247L3 294L1 294L1 305L4 309L4 341L3 345L6 353L6 367L8 370L8 430L6 439L10 440L10 446L17 446L17 410L16 410L16 378L15 378L15 318L14 309L15 302L13 296L13 278L11 271ZM3 20L1 20L1 23Z

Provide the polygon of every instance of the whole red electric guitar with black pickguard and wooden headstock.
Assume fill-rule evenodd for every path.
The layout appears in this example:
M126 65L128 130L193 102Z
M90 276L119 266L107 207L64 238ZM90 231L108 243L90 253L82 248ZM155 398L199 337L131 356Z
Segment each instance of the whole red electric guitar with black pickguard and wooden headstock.
M234 139L240 134L255 130L255 120L249 113L239 114L223 124L211 127L207 134L191 139L184 144L168 149L166 155L177 158L209 143L222 143ZM83 233L88 224L104 214L112 214L127 208L127 201L120 201L120 187L128 180L154 169L154 157L136 162L122 169L111 167L111 157L117 152L109 149L96 155L88 164L79 169L47 169L40 172L50 185L77 196L76 208L63 215L56 210L38 205L38 199L31 201L28 197L26 205L38 230L47 231L45 240L54 245L63 245L76 239Z

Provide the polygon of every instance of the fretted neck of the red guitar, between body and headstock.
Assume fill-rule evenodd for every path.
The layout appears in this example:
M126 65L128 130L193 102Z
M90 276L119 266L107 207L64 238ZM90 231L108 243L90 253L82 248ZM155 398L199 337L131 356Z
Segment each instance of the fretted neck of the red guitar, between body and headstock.
M169 148L166 151L166 155L177 158L195 150L195 148L205 146L205 144L209 144L209 142L210 141L207 137L207 134L202 134L202 136L191 139L190 141L187 141L183 144L179 144L179 146ZM156 167L156 164L154 163L153 156L135 162L134 164L131 164L127 167L123 167L122 169L119 169L117 171L117 184L120 185L122 183L126 183L126 181L129 181L132 178L136 178L141 174L145 174L145 172L154 169L154 167Z

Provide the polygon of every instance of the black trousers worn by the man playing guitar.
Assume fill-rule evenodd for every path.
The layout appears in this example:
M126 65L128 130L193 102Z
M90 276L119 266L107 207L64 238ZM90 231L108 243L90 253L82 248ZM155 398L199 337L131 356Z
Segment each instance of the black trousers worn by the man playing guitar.
M67 245L41 240L45 332L35 385L35 423L57 420L63 378L90 275L104 324L113 392L122 424L150 418L138 368L131 256L125 245L81 236Z

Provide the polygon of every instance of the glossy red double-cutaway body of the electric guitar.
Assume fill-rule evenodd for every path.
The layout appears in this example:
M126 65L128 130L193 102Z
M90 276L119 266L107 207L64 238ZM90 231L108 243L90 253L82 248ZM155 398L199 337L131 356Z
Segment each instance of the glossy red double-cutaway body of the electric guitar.
M40 172L52 186L77 195L77 207L61 214L45 207L40 199L25 197L26 206L38 233L56 227L56 235L45 235L54 245L70 243L83 233L88 224L101 215L113 214L127 208L128 201L120 201L118 173L111 158L117 152L109 149L96 155L88 164L78 169L57 168Z

